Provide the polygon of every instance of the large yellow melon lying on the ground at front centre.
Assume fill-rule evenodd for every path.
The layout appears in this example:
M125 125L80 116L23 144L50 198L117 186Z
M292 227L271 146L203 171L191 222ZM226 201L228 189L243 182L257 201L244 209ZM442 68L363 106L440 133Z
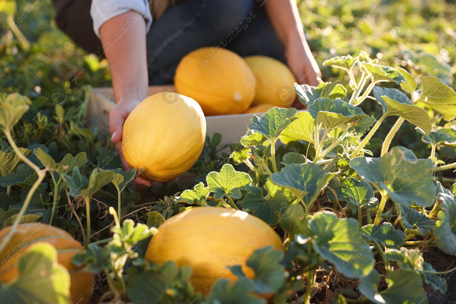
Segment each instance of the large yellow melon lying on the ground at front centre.
M195 290L207 292L221 278L237 280L229 268L240 265L249 278L249 256L266 246L284 251L282 240L258 217L247 212L195 207L164 222L147 247L145 259L162 265L168 260L193 269L190 278Z

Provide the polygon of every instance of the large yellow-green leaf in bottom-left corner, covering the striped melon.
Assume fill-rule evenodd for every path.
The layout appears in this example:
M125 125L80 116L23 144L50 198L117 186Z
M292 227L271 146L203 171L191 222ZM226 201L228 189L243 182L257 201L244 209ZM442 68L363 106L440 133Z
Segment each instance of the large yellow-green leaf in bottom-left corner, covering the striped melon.
M57 263L57 250L51 244L32 244L21 254L18 270L18 278L9 284L0 283L2 303L70 303L70 275Z

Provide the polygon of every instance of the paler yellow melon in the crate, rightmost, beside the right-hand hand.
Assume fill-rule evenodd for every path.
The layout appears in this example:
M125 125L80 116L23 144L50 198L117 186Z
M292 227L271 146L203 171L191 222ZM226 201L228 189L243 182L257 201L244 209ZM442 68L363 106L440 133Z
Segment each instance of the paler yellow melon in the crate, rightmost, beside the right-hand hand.
M244 58L255 75L256 91L252 106L271 103L279 108L290 108L295 99L295 75L282 62L266 56Z

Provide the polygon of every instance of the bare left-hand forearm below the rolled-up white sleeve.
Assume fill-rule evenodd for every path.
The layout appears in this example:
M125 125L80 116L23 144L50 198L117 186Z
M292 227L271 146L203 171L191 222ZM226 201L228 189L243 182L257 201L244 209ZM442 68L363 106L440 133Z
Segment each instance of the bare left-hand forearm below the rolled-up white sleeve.
M99 33L109 62L116 103L146 98L148 73L144 18L130 10L106 21Z

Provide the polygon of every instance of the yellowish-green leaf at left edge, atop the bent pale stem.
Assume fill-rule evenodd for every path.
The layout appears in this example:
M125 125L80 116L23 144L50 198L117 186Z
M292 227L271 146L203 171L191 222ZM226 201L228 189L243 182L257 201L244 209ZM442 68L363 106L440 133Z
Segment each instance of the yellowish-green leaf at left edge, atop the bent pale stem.
M26 113L28 108L27 100L21 94L13 93L9 94L5 99L1 98L0 129L10 130Z

